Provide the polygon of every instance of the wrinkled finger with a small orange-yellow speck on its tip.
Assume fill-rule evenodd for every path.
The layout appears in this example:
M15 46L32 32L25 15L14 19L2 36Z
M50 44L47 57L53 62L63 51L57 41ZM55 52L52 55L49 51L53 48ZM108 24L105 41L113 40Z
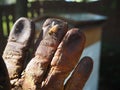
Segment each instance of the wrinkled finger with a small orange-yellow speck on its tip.
M49 19L44 28L48 31L39 44L35 57L30 61L25 70L24 90L39 90L43 76L47 72L53 55L67 32L67 23L59 19ZM46 23L46 22L45 22Z

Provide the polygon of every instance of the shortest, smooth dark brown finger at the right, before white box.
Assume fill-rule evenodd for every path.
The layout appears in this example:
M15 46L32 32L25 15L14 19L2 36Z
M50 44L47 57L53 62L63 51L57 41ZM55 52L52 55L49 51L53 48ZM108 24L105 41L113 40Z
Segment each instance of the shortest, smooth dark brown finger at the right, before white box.
M65 85L65 90L82 90L93 68L90 57L84 57L75 68L72 76Z

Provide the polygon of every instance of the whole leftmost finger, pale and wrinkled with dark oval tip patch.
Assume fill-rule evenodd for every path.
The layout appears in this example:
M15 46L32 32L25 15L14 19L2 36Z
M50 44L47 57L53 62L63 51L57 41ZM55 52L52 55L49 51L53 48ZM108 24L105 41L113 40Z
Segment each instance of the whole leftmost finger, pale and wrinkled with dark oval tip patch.
M18 19L12 27L3 53L11 80L20 77L26 53L34 37L34 24L27 18Z

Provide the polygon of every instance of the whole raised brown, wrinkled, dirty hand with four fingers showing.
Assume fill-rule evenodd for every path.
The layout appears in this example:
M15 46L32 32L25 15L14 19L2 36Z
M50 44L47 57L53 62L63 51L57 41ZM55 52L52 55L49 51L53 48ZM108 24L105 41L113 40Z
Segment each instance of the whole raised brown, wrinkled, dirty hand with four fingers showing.
M68 30L67 22L54 18L47 19L42 29L32 47L34 23L27 18L15 22L0 58L0 90L82 90L93 67L90 57L78 62L84 34L77 28ZM27 63L29 49L35 53Z

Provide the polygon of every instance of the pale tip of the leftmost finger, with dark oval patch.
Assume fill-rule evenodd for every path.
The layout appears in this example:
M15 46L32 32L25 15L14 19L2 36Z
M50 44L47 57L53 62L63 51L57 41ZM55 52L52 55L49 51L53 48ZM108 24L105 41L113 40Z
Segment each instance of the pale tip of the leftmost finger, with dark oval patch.
M34 22L28 18L21 17L13 25L8 41L27 44L29 38L34 35Z

